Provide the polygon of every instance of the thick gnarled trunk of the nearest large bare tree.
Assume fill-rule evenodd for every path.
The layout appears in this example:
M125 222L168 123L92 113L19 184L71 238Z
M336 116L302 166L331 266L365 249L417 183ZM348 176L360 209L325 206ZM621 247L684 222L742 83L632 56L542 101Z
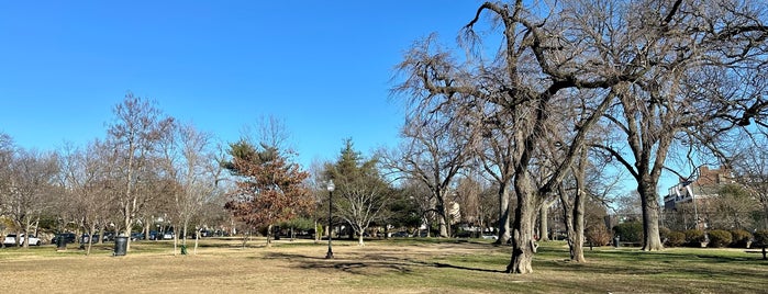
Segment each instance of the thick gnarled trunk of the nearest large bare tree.
M533 229L536 220L537 194L531 191L527 174L519 174L515 178L515 194L517 206L514 210L512 230L512 258L507 265L508 273L533 273L533 256L536 245L533 239Z

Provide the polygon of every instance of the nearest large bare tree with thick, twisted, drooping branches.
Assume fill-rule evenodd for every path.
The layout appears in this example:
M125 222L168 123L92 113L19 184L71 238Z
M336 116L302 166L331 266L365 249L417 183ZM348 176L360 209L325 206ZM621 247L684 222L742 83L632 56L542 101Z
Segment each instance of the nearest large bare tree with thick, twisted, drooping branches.
M578 3L577 3L578 4ZM416 44L400 65L405 80L400 90L411 95L411 102L421 113L472 113L478 105L492 104L494 111L504 114L515 128L510 155L514 166L513 186L516 196L512 226L512 257L508 272L530 273L536 250L534 224L538 207L566 176L585 142L590 127L613 101L615 93L609 88L632 81L642 72L632 63L601 58L597 47L608 47L600 27L585 24L580 12L569 5L553 7L558 12L537 15L523 1L514 3L486 2L465 27L465 44L469 48L481 44L475 29L481 16L489 15L493 24L489 30L501 35L501 46L485 60L482 54L457 60L449 50L442 49L432 39ZM469 50L485 53L482 48ZM591 97L582 105L585 112L574 117L572 136L559 143L563 157L556 158L550 174L534 174L539 166L542 148L549 149L547 135L550 115L564 99L574 92L589 91ZM571 104L571 103L566 103ZM458 111L454 110L457 109ZM492 116L492 113L488 114ZM456 116L458 117L458 116ZM509 118L507 118L509 117ZM561 117L557 117L558 120Z

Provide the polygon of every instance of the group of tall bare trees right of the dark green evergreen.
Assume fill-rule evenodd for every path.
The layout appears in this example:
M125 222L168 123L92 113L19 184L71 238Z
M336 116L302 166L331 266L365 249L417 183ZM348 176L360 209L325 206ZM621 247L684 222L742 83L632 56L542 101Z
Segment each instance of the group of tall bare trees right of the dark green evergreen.
M561 202L571 251L580 250L585 170L603 160L636 182L643 249L660 250L667 158L727 160L728 138L766 126L765 3L517 0L485 2L470 15L458 48L430 36L400 64L394 92L410 105L403 136L425 151L391 162L430 180L442 218L445 182L470 158L511 184L513 206L499 193L500 215L512 216L510 273L533 271L537 214L556 194L572 193Z

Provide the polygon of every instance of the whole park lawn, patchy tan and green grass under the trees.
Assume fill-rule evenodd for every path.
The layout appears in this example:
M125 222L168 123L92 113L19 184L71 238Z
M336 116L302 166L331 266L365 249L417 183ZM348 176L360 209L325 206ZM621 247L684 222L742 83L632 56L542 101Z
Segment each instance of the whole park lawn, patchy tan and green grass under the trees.
M197 255L174 256L169 241L112 246L85 256L76 246L0 249L3 293L768 293L768 261L744 249L609 247L568 262L563 242L544 242L534 273L503 273L509 247L474 240L370 240L366 247L263 239L205 239ZM589 250L589 249L587 249Z

